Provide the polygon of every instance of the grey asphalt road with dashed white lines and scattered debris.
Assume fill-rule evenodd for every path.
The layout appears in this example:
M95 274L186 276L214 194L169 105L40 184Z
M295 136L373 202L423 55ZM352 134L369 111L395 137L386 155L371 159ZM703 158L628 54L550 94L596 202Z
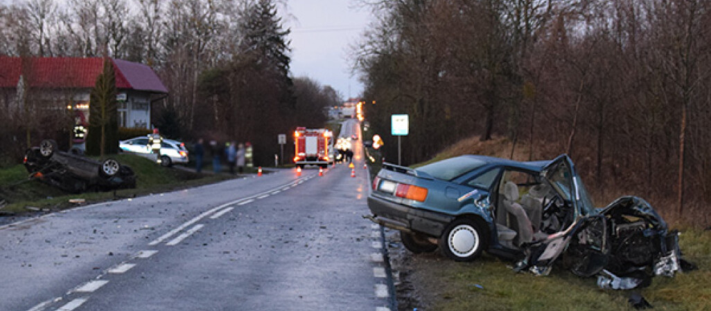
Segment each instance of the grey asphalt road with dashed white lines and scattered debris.
M0 227L0 310L389 310L354 160Z

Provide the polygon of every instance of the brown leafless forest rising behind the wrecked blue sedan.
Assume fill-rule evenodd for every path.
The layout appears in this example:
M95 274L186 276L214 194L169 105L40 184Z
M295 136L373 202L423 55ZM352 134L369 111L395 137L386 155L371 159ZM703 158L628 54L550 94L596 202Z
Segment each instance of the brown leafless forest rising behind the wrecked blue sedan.
M569 154L601 207L634 194L709 224L711 1L361 2L365 115L386 146L410 115L404 164L504 137L516 160Z

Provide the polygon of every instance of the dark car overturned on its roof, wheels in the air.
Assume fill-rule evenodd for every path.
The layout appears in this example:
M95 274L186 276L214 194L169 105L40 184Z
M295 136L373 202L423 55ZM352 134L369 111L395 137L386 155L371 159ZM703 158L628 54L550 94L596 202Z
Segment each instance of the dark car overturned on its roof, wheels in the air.
M136 188L134 171L115 159L96 161L81 154L61 152L54 140L43 140L25 153L23 160L31 177L65 191Z

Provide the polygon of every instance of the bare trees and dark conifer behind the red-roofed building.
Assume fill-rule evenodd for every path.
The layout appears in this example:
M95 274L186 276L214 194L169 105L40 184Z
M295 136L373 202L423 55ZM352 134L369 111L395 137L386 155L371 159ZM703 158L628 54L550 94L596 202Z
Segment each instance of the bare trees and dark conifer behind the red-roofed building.
M324 106L341 103L330 86L292 77L286 8L279 0L11 1L0 4L0 55L147 64L169 89L151 106L162 134L252 142L257 164L268 164L277 134L320 127ZM48 100L48 91L28 90L24 113L0 105L0 163L21 159L26 135L37 144L70 130L71 117L58 113L67 103Z

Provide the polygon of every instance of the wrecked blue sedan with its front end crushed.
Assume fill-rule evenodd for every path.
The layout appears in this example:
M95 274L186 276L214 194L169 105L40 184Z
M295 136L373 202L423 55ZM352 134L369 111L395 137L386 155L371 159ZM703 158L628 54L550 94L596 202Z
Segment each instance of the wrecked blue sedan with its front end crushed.
M465 155L411 169L383 164L368 207L374 222L400 230L413 253L472 261L482 251L547 274L565 252L581 276L673 276L678 233L641 198L595 208L573 163L515 162ZM511 213L523 210L525 213Z

